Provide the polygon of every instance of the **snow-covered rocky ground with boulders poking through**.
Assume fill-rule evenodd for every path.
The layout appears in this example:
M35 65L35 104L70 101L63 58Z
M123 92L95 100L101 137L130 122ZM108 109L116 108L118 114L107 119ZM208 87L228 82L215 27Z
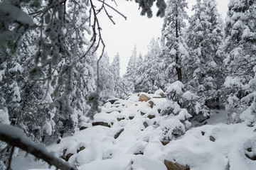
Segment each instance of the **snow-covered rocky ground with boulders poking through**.
M48 149L81 170L165 170L166 162L188 165L191 170L255 169L256 161L252 160L256 155L255 127L242 123L226 125L227 113L218 111L203 122L207 122L206 125L191 128L185 135L163 145L161 125L166 119L159 115L159 109L166 98L146 96L153 104L139 101L138 94L113 104L105 103L95 120L84 123L84 130L64 137L60 144L48 145ZM102 125L96 125L100 122ZM12 168L49 167L20 152Z

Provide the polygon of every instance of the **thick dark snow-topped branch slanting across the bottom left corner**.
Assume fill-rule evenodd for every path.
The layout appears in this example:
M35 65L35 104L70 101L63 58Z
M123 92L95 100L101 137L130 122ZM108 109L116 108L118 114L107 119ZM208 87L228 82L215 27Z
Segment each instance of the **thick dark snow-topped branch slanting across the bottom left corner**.
M33 154L38 159L43 159L50 165L55 166L61 170L75 170L63 159L55 157L53 152L46 151L46 147L41 144L36 145L30 138L28 138L23 130L11 125L4 125L0 123L0 140L8 143L13 147L18 147L24 151Z

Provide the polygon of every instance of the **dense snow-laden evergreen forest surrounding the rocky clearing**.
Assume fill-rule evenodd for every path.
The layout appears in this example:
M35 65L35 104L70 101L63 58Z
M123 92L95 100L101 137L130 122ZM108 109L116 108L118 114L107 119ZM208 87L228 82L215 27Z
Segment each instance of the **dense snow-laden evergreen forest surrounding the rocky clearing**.
M229 123L255 125L254 0L230 0L225 23L213 0L197 0L191 17L185 0L158 0L161 38L151 40L144 57L134 47L124 77L122 56L117 53L110 64L106 52L95 53L104 46L97 13L105 4L97 9L94 1L82 0L0 2L0 123L23 129L35 142L78 130L109 98L158 89L186 108L186 128L188 119L224 107ZM153 3L147 2L137 1L151 17ZM172 104L161 114L173 114ZM8 164L10 148L1 142L0 167Z

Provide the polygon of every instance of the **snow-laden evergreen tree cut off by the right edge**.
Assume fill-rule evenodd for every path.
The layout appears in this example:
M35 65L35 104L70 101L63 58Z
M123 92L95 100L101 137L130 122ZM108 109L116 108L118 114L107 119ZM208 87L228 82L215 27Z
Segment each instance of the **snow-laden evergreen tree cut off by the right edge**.
M242 112L240 118L247 125L255 125L255 6L255 1L231 0L225 26L226 108L231 117Z

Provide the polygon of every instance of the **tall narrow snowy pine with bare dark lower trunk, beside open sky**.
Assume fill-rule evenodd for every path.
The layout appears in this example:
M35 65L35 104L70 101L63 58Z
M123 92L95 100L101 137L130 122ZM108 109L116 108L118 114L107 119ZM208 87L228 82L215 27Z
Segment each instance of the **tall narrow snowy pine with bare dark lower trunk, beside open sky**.
M166 77L169 81L182 81L183 66L188 60L188 51L182 30L186 27L187 3L184 0L167 1L161 42L164 50ZM177 75L177 78L174 78Z

